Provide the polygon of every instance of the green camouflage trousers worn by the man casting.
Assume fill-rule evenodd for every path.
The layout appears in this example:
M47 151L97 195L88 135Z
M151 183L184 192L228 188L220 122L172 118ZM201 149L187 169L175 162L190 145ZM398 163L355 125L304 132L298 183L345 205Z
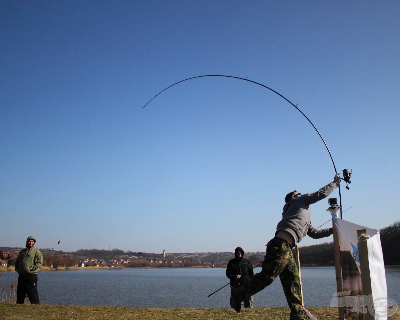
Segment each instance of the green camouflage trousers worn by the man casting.
M274 237L267 244L261 272L240 287L232 290L236 301L243 301L269 286L279 276L290 308L290 320L306 318L301 303L300 276L292 254L292 246L284 239Z

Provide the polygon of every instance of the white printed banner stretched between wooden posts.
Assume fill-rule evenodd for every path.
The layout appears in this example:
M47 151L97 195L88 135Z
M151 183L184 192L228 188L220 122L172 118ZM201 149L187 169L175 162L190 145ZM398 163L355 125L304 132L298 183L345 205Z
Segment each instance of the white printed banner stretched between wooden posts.
M356 314L370 312L376 320L386 320L388 298L379 230L339 218L334 219L334 226L338 232L343 281L343 292L338 292L338 306L344 307L346 318L360 318ZM362 294L357 230L364 229L367 235L372 296Z

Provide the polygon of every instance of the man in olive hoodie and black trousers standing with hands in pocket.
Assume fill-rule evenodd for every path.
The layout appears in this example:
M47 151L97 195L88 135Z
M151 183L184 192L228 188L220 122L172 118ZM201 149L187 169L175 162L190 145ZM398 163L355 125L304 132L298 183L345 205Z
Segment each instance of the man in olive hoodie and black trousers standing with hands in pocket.
M31 304L40 304L38 294L38 270L43 264L42 252L36 249L36 240L30 236L26 239L25 248L18 253L15 271L18 272L17 303L24 304L25 297Z

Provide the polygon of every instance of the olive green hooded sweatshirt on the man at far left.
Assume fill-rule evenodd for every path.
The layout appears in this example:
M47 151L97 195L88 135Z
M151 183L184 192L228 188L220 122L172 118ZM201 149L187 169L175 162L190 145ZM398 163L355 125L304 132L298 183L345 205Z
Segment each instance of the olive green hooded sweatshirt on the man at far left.
M33 240L32 247L28 247L28 241ZM42 252L35 248L36 239L32 236L26 239L25 249L18 253L17 260L15 261L15 271L21 276L28 276L38 272L40 266L43 264Z

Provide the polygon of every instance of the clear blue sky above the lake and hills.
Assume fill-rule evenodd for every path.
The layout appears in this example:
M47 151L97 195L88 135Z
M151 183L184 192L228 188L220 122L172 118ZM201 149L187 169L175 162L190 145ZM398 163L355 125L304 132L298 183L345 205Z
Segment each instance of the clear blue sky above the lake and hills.
M264 251L286 193L334 167L249 82L186 81L142 109L203 74L298 104L352 169L343 218L399 220L399 16L398 1L2 1L0 246Z

